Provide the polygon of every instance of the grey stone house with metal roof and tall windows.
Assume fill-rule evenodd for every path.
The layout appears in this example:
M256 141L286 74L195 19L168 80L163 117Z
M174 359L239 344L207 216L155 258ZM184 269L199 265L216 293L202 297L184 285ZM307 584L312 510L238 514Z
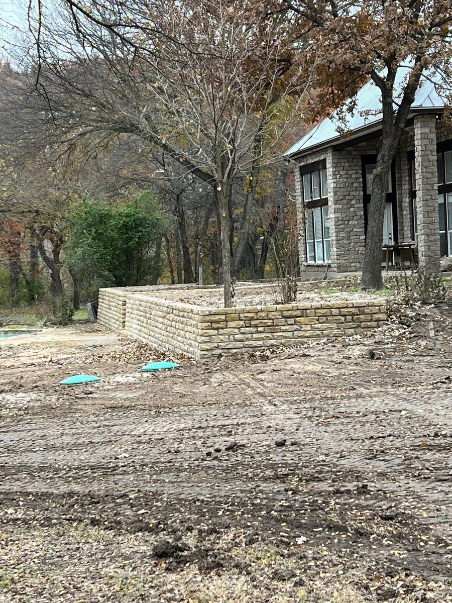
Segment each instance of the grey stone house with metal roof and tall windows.
M398 86L406 75L399 69ZM452 126L444 82L422 81L388 182L383 244L417 241L419 266L452 256ZM381 96L369 81L284 156L295 163L301 271L362 270L372 172L381 141ZM341 133L342 132L342 133Z

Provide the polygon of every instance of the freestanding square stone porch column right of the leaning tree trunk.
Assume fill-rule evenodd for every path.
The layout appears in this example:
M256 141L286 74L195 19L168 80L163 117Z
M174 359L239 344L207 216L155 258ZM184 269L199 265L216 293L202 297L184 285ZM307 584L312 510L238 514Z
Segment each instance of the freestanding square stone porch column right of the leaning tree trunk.
M423 268L428 272L439 272L435 115L416 115L414 130L419 268Z

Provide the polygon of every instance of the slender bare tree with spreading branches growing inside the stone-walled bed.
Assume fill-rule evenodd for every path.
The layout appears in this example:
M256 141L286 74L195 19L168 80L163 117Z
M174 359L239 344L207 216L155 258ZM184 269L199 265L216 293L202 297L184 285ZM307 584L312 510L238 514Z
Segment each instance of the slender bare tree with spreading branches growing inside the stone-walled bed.
M308 84L290 58L284 23L266 23L240 2L93 2L92 14L81 3L63 5L51 26L43 14L32 27L38 51L28 85L36 83L36 93L28 107L45 120L48 142L72 150L83 143L89 156L99 140L133 134L209 186L230 306L234 186L251 190L239 258L257 174L279 153Z

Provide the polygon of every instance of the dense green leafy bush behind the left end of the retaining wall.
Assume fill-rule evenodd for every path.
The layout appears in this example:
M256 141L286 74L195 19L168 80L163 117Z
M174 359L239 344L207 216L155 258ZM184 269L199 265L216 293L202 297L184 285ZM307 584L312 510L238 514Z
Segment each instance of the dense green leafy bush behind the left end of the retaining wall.
M165 232L150 192L120 207L85 201L74 209L66 265L85 284L155 285Z

